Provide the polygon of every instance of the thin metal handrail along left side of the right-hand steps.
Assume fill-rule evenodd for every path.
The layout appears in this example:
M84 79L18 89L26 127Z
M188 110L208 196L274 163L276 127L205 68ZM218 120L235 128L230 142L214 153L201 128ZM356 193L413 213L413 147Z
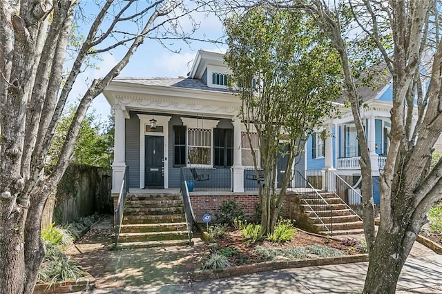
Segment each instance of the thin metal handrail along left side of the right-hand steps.
M307 205L307 207L319 219L320 224L324 226L330 235L333 235L332 206L322 195L320 195L318 189L314 188L314 186L312 186L309 181L298 172L298 170L294 170L293 181L294 186L298 187L295 188L298 199Z

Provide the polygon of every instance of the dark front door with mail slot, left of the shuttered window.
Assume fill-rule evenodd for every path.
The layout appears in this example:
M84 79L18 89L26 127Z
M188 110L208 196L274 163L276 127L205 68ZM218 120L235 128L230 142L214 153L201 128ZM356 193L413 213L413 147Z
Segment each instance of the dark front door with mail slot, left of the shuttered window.
M144 144L144 186L164 188L164 137L146 136Z

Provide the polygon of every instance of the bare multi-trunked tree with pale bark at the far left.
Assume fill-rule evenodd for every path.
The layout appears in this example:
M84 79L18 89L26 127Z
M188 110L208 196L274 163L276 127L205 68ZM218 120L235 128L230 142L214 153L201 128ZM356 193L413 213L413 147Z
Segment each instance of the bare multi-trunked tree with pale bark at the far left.
M0 1L0 293L32 293L44 257L41 213L73 154L75 138L91 101L148 39L185 39L196 29L191 12L203 3L101 1L73 64L63 72L73 37L76 0ZM88 9L92 3L86 3ZM78 14L80 15L80 14ZM182 31L180 19L193 28ZM129 23L129 24L126 24ZM128 32L127 28L131 28ZM124 50L102 78L90 83L75 112L50 175L44 163L73 84L91 56Z

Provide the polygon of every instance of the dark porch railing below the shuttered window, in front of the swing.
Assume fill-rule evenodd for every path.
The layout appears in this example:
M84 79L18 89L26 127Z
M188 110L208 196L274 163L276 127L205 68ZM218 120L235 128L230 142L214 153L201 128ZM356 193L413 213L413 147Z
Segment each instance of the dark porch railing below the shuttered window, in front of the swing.
M232 190L231 168L182 168L181 176L189 192Z

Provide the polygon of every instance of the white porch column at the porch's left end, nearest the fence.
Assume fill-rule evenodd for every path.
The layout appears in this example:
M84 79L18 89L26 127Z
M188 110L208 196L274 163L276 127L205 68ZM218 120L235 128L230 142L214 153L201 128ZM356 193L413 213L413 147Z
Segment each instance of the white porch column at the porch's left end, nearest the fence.
M122 187L126 160L124 158L124 110L121 104L115 105L115 136L112 164L112 193L117 194Z

